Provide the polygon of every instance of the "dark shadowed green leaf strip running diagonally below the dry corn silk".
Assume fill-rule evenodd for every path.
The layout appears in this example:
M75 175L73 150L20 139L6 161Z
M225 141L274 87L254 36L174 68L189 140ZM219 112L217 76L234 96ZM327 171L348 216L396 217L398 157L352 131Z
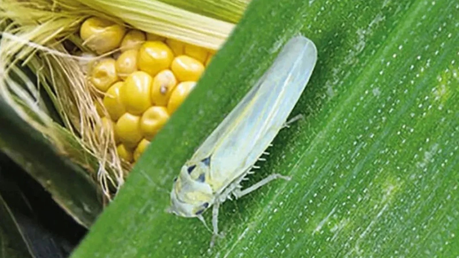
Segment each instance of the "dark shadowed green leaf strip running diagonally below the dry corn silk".
M1 151L49 191L73 219L89 227L102 210L101 191L90 175L61 156L1 98L0 124ZM67 144L73 144L70 137Z

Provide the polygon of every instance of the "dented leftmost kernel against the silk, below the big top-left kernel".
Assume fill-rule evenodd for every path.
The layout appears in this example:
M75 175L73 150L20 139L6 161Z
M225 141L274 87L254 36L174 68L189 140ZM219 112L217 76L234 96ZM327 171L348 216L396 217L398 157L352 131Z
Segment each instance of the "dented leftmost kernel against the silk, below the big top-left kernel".
M115 59L107 58L97 63L92 69L90 81L97 90L106 92L113 83L118 81L115 64Z

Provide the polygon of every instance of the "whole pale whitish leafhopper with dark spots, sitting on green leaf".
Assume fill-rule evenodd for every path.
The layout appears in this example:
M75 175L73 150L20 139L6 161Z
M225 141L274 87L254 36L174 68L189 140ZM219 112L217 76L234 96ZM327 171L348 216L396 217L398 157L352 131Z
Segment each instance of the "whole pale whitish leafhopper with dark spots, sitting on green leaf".
M202 143L181 168L170 194L168 212L205 221L202 213L213 206L213 238L218 236L218 208L278 178L271 174L241 189L241 181L265 153L306 87L317 61L314 43L304 36L291 38L240 103ZM213 240L211 241L213 245Z

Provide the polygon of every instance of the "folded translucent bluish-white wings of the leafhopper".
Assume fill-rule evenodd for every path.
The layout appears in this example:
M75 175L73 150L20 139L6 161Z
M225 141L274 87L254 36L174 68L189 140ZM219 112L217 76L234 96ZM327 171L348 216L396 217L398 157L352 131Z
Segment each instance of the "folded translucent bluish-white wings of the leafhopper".
M250 169L266 150L306 87L316 61L311 40L303 36L289 40L269 70L196 151L195 158L211 155L209 176L216 188L222 190Z

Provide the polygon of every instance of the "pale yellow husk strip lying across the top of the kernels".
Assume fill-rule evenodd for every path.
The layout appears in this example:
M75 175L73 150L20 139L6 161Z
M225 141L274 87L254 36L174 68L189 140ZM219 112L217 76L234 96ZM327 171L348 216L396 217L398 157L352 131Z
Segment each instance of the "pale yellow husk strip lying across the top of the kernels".
M234 24L152 0L76 0L134 28L217 50Z

